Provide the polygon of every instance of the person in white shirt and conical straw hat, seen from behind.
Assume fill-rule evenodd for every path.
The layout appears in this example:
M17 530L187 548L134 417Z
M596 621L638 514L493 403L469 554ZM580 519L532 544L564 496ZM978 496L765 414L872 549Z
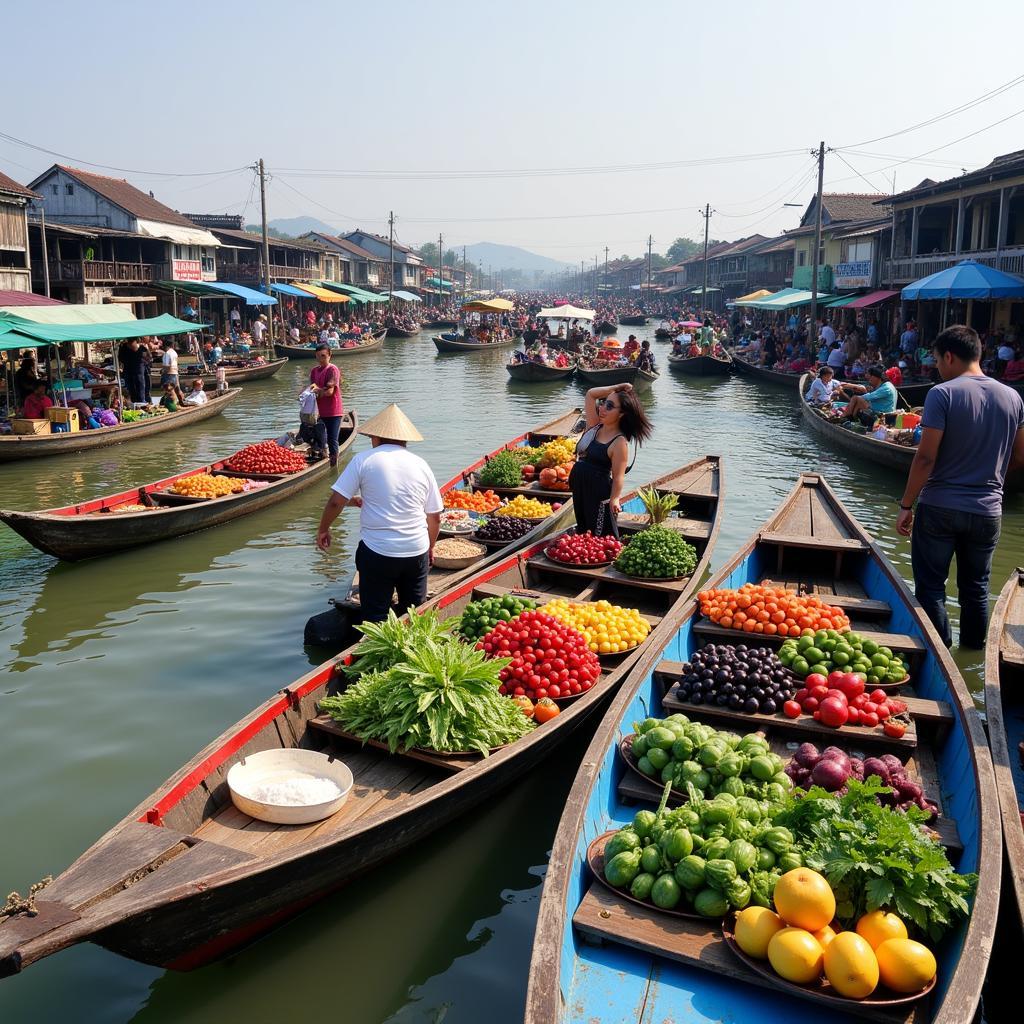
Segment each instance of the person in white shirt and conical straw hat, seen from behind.
M408 451L423 436L395 404L359 428L373 446L345 467L321 516L316 547L331 547L331 523L347 505L359 512L359 604L366 622L387 618L395 591L398 609L422 604L427 573L440 530L441 500L427 463Z

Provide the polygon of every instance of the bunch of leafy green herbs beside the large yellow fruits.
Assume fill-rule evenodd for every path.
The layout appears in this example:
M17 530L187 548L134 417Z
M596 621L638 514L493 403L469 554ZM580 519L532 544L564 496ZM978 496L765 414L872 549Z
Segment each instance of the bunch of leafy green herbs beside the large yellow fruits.
M778 820L801 838L807 866L828 880L844 928L884 907L937 942L969 913L978 876L954 870L925 811L882 806L877 798L888 792L877 777L847 779L842 796L813 786Z

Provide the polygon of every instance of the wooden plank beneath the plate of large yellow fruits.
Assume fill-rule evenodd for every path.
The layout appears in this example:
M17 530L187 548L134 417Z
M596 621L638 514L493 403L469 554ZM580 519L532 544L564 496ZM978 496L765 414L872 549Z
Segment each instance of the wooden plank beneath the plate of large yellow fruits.
M575 913L572 926L593 944L631 946L652 956L668 956L680 964L725 975L737 982L759 985L777 992L777 987L752 971L721 938L718 926L692 918L673 918L631 903L600 884L590 887ZM850 1000L850 1013L886 1022L914 1020L914 1005L882 1011ZM825 1016L825 1015L823 1015ZM923 1018L922 1018L923 1019Z

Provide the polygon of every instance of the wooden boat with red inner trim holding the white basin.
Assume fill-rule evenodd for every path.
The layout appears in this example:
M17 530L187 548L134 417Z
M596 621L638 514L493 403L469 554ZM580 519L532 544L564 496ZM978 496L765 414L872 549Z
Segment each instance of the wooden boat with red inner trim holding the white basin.
M690 518L680 528L699 546L689 580L635 581L560 566L544 556L542 542L428 605L449 617L473 598L509 591L541 600L607 596L645 614L653 624L645 643L657 644L708 564L720 473L717 459L701 459L663 484L681 493ZM319 715L318 700L343 686L343 652L283 687L147 796L38 895L35 916L0 921L0 977L83 941L177 970L229 953L521 779L605 705L643 650L604 657L592 689L486 758L389 755ZM351 769L355 784L341 810L315 824L278 826L237 810L227 770L258 751L296 746L341 757Z

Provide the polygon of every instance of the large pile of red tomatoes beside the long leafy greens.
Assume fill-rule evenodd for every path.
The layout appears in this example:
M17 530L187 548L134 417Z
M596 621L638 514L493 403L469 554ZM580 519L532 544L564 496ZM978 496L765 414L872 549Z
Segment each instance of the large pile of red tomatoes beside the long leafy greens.
M601 675L597 655L583 634L543 611L524 611L499 623L477 643L489 657L508 657L499 691L511 696L575 696L589 690Z

